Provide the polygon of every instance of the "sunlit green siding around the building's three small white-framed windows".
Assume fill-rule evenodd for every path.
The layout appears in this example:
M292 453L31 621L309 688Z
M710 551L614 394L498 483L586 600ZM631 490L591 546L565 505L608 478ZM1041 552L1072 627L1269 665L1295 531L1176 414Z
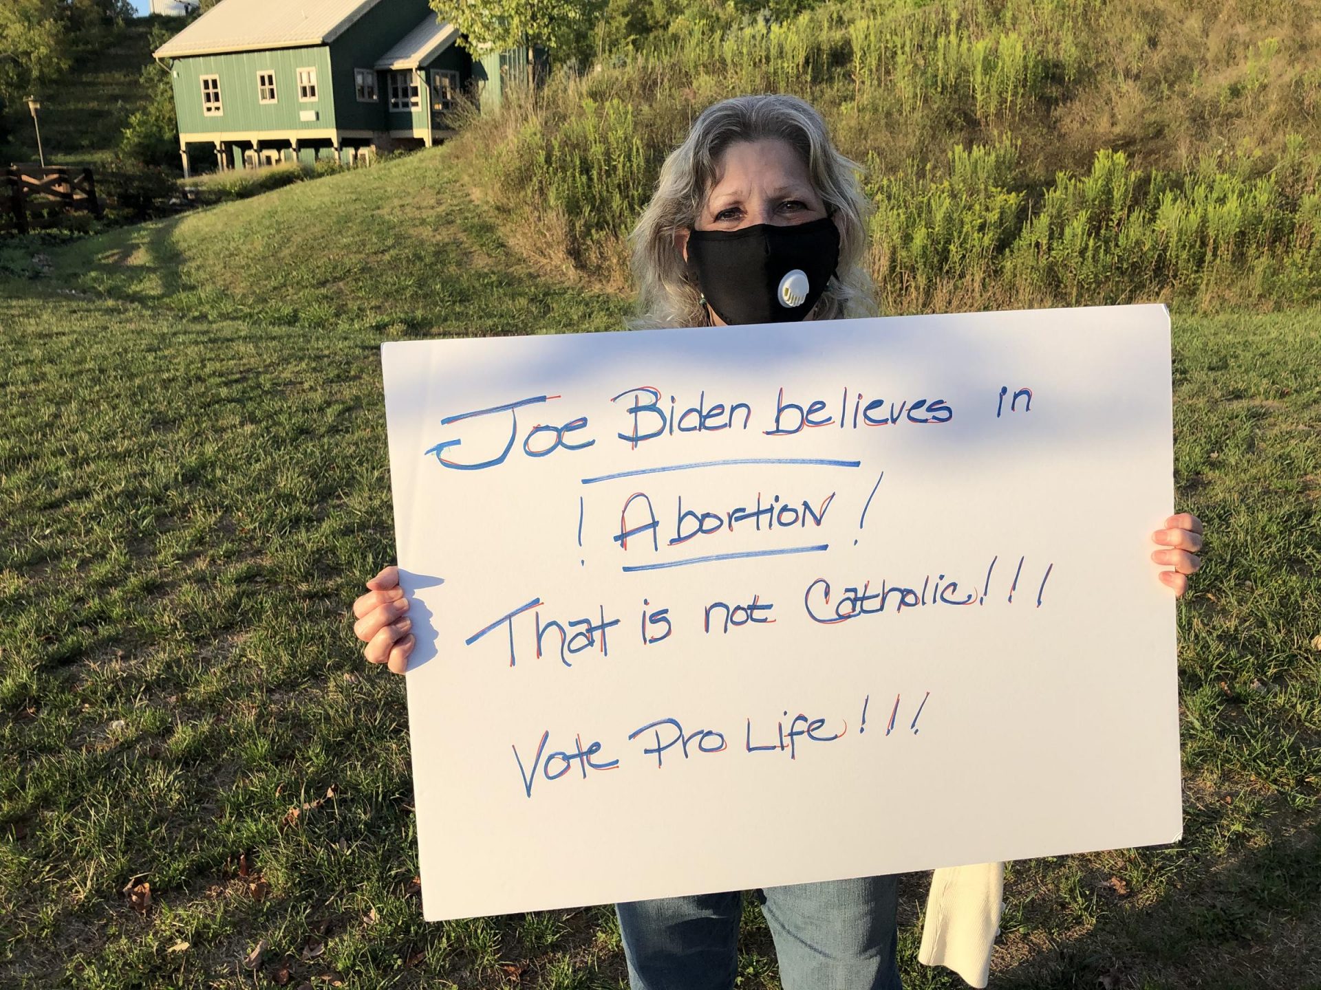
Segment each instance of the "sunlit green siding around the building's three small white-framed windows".
M317 70L317 99L299 102L297 70ZM256 74L275 71L275 103L258 99ZM219 116L202 114L203 75L221 81ZM173 65L174 108L184 133L248 131L321 131L336 127L336 98L330 77L330 53L318 48L288 48L268 51L235 51L226 55L192 55ZM349 70L353 84L353 69ZM350 90L351 92L351 90ZM300 111L317 111L317 120L300 120Z

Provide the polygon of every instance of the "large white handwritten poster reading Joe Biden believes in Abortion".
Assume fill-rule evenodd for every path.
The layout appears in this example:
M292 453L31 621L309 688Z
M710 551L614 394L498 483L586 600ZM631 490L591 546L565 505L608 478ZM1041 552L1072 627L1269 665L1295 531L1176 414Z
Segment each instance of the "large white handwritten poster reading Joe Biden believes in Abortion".
M1181 834L1164 306L382 364L427 919Z

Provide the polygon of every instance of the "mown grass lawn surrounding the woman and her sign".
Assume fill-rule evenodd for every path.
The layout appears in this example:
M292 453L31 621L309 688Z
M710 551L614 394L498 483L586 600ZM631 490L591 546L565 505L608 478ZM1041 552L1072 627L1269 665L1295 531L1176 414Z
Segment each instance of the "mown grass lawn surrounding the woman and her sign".
M609 908L421 921L404 684L347 609L394 553L380 341L627 301L443 149L0 255L0 986L622 986ZM992 987L1321 987L1318 321L1176 310L1184 838L1012 863ZM963 986L915 962L926 888L905 986Z

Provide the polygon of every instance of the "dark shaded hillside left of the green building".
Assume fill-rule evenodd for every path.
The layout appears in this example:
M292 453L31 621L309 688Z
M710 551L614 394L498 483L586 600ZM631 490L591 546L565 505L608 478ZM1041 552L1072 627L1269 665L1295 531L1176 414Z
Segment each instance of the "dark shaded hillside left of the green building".
M119 147L120 132L147 102L139 78L152 61L148 40L160 18L127 21L104 48L82 55L69 75L41 99L41 143L46 162L102 165ZM15 161L36 161L37 141L26 104L8 115Z

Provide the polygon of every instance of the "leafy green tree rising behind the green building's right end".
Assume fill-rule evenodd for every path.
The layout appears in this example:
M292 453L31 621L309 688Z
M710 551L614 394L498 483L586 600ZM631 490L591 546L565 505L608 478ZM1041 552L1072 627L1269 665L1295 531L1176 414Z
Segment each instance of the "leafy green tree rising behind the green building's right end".
M458 28L458 44L469 51L524 50L531 83L532 49L569 58L585 54L605 0L431 0L431 5Z

